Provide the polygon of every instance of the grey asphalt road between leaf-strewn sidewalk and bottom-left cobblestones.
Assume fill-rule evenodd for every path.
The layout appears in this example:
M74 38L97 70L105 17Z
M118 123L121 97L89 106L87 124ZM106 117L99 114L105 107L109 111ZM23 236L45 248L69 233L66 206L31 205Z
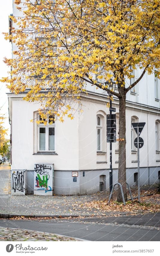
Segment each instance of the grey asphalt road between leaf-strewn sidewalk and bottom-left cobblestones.
M158 225L159 214L148 214L146 218L123 216L85 220L0 220L2 227L50 232L89 241L160 241Z

